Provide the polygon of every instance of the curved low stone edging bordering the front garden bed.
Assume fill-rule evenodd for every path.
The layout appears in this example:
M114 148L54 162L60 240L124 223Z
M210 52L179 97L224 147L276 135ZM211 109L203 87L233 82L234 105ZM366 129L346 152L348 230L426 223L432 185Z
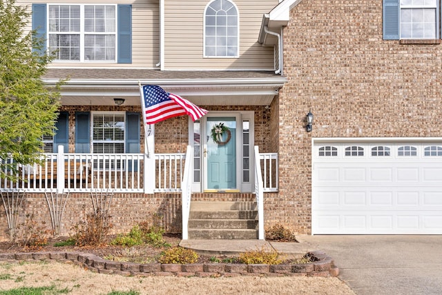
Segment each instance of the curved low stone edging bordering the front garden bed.
M54 260L74 263L100 274L119 274L122 276L338 276L339 269L331 257L324 252L309 252L314 262L304 264L266 265L242 263L128 263L108 261L95 254L84 252L32 252L0 253L0 261L45 261Z

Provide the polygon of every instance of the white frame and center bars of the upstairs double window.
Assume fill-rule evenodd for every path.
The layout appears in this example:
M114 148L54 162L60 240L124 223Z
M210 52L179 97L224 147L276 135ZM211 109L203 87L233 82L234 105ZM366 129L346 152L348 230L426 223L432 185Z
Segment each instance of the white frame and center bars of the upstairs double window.
M119 7L117 4L113 3L48 3L46 6L46 22L48 23L48 28L46 30L46 48L50 50L50 35L51 34L74 34L73 32L50 32L50 6L79 6L80 7L80 30L79 30L79 59L78 60L67 60L67 59L54 59L52 62L54 63L118 63L118 54L119 54L119 43L118 43L118 26L119 26ZM115 7L115 26L114 32L86 32L84 30L85 24L85 6L114 6ZM75 33L77 34L77 33ZM115 52L114 59L104 59L104 60L87 60L85 59L85 42L84 37L86 34L103 34L103 35L113 35L115 36Z

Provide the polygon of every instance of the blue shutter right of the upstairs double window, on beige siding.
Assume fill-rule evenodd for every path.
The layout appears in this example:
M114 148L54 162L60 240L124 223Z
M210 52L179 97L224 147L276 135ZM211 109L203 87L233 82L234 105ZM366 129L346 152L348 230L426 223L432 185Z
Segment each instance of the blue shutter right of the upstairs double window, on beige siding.
M118 4L118 63L132 63L132 6Z

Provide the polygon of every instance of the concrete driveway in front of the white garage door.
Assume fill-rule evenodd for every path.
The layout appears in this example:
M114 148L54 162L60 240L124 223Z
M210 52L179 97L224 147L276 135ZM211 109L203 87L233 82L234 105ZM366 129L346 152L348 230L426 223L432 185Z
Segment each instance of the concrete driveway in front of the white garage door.
M442 236L297 236L356 294L442 294Z

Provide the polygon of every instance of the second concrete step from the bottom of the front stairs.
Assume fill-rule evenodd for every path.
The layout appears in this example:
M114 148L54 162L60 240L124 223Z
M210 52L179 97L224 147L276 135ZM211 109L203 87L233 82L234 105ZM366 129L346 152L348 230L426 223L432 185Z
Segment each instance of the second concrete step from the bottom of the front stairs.
M258 221L250 219L190 219L191 229L235 229L256 230Z

